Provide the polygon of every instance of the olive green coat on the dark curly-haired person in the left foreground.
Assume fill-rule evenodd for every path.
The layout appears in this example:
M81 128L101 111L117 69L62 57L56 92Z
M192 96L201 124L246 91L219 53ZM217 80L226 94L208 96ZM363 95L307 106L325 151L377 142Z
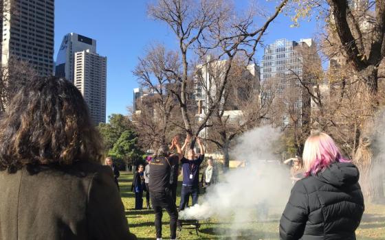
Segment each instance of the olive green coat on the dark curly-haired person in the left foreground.
M110 167L0 171L0 240L136 239Z

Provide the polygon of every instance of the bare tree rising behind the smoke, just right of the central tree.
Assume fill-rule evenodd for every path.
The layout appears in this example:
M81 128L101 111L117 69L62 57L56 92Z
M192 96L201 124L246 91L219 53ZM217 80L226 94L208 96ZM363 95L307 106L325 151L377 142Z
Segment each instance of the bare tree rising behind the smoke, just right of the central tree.
M224 77L223 68L225 62L222 61L211 62L197 69L197 82L203 91L203 101L214 101L215 90ZM259 82L259 69L254 64L245 67L245 62L237 59L228 76L221 104L208 121L210 126L205 136L222 152L225 168L229 167L232 141L245 130L259 125L265 117L273 98L267 99L264 90ZM203 115L206 110L204 105L206 103L201 106Z

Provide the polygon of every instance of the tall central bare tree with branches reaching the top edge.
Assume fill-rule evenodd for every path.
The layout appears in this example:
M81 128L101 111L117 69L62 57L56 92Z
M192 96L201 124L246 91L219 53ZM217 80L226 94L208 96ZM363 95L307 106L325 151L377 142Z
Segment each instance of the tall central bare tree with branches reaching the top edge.
M276 8L276 12L265 21L262 27L256 30L250 30L254 23L253 14L249 14L243 21L230 21L234 19L232 17L234 16L232 7L224 1L159 0L154 5L150 5L148 8L149 14L155 19L166 23L173 30L178 40L181 71L164 70L170 73L170 78L180 84L180 91L173 93L179 101L184 128L188 134L198 136L199 132L207 127L208 120L214 110L221 104L234 57L239 51L245 53L249 50L248 55L251 58L265 30L278 16L286 2L285 0L282 1ZM215 52L219 58L225 58L226 60L225 75L217 88L217 95L215 95L205 116L197 123L195 129L192 126L192 119L188 115L187 88L188 82L192 82L191 78L194 75L193 68L189 67L188 64L188 56L194 53L193 50L201 57L210 52ZM195 139L192 139L190 147L194 145Z

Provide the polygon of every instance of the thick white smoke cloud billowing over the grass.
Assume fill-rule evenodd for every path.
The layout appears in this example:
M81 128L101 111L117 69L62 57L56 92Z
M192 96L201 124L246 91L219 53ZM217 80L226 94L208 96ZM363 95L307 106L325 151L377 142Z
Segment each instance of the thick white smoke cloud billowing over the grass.
M240 136L231 156L244 160L245 167L221 176L221 182L200 198L201 204L181 211L179 219L228 219L230 229L236 232L242 222L268 219L272 206L283 211L292 184L289 169L280 165L274 154L279 137L279 131L268 126Z

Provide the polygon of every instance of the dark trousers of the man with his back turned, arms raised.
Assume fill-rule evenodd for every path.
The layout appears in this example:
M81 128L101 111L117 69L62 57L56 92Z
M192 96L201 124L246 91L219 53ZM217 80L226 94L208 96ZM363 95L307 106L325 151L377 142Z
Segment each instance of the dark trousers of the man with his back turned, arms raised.
M151 191L150 197L155 212L156 237L162 237L162 209L166 209L168 215L170 215L170 239L175 239L177 237L178 211L170 190L165 189L162 192Z

